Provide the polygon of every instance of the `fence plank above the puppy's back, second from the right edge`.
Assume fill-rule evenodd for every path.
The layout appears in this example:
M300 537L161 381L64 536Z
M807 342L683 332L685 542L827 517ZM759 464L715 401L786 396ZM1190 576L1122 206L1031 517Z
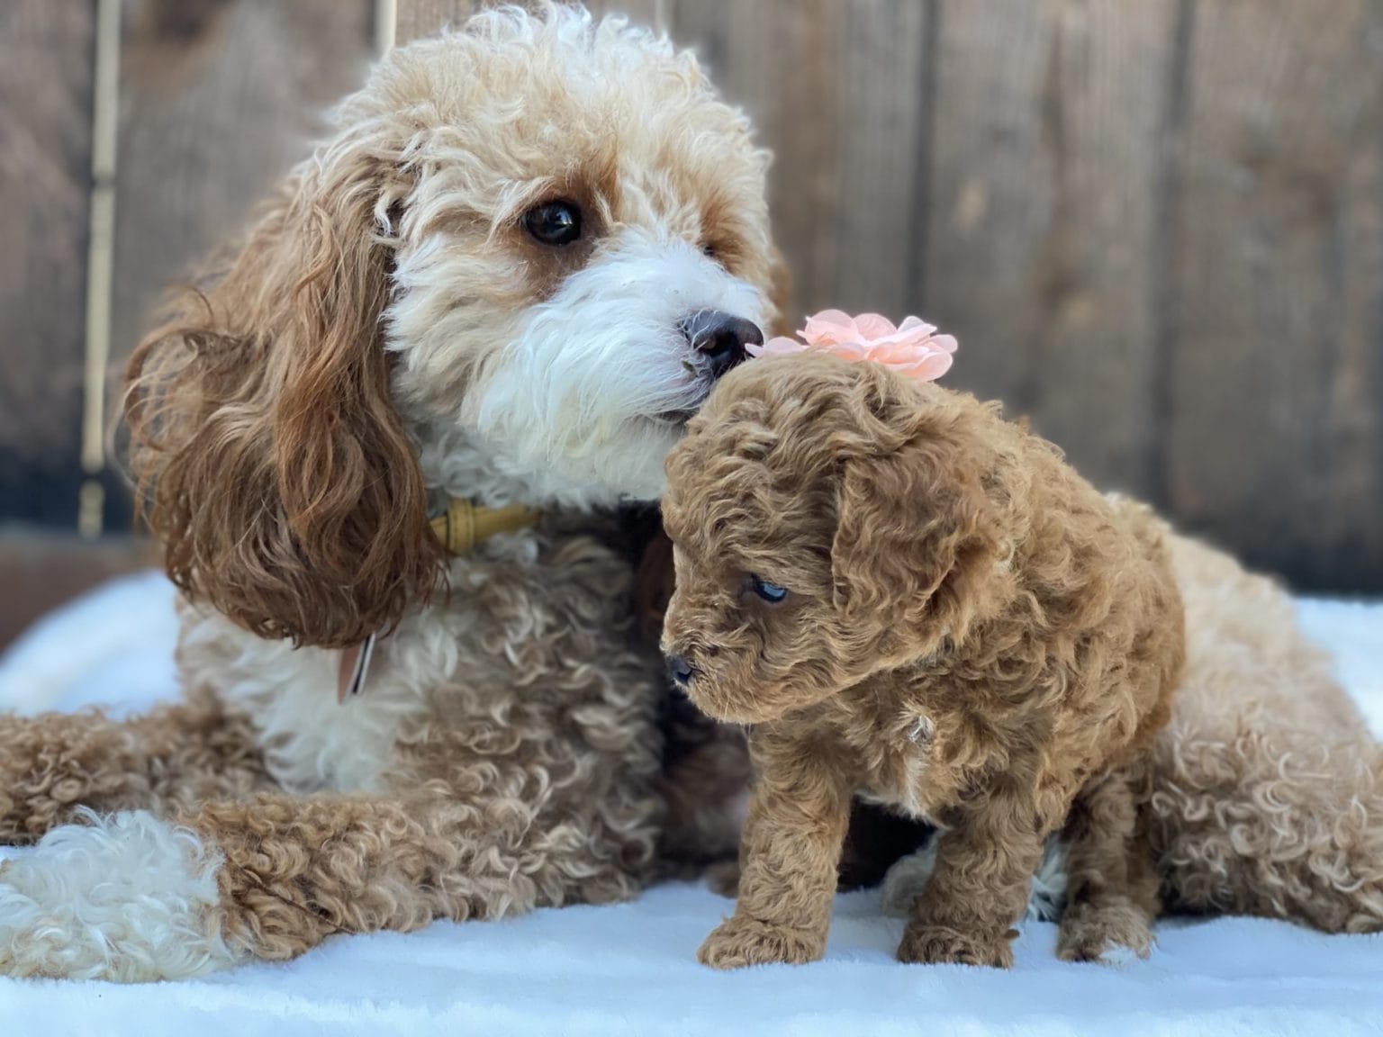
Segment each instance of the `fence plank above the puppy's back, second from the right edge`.
M954 382L1094 481L1160 496L1153 267L1177 4L940 0L928 319Z

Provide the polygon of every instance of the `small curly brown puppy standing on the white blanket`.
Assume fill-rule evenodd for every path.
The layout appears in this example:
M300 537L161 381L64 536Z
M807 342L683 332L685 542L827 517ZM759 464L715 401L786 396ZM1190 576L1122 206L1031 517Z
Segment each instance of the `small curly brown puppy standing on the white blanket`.
M703 962L823 954L856 792L946 830L902 961L1008 966L1057 831L1061 957L1148 953L1145 762L1184 637L1156 517L994 404L822 354L732 372L668 476L669 669L755 767Z

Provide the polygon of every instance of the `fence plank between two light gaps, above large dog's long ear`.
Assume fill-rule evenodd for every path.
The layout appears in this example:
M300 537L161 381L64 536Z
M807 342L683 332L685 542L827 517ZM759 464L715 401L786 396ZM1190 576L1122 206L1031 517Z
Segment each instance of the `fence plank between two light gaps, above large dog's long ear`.
M112 361L166 288L239 231L364 82L372 0L144 0L126 8Z

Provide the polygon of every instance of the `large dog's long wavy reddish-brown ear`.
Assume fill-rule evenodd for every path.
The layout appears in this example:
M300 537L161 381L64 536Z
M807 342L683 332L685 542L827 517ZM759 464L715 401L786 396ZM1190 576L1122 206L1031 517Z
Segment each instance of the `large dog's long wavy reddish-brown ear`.
M383 234L405 188L380 152L300 166L129 365L130 467L169 575L266 637L357 643L441 574L389 397Z

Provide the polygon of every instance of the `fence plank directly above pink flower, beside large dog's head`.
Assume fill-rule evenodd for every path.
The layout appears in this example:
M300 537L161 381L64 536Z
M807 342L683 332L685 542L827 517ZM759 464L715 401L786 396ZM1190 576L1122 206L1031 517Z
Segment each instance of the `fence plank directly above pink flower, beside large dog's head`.
M680 0L674 28L774 152L788 321L799 326L828 306L895 317L916 308L907 252L927 133L928 4Z

